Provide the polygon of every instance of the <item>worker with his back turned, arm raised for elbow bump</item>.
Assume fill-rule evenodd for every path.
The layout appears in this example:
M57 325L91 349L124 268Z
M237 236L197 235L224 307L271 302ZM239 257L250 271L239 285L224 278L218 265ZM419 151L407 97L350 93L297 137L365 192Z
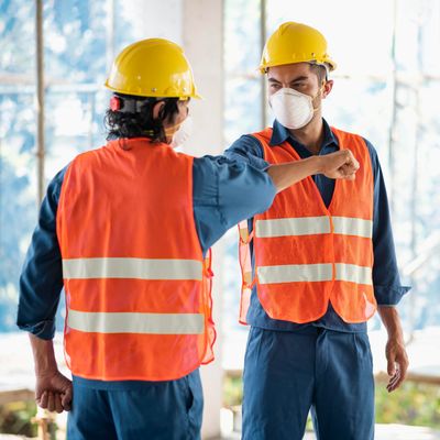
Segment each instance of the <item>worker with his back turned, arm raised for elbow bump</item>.
M262 172L173 147L199 98L182 48L125 47L106 86L108 143L48 185L20 280L18 324L30 331L36 402L70 410L72 439L198 439L198 367L212 361L210 246L311 174L353 179L350 152ZM64 286L64 345L52 338ZM74 397L73 397L74 396Z

